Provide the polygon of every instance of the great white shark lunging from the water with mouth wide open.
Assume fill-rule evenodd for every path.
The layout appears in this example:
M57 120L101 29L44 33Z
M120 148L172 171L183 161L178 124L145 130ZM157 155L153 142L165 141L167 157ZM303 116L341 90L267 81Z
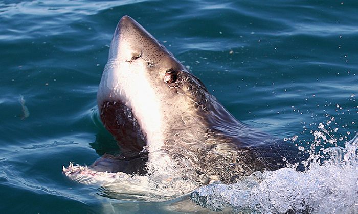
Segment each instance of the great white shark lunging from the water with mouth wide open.
M101 121L120 155L63 172L75 180L95 172L225 183L301 161L288 142L238 121L170 51L123 16L97 93Z

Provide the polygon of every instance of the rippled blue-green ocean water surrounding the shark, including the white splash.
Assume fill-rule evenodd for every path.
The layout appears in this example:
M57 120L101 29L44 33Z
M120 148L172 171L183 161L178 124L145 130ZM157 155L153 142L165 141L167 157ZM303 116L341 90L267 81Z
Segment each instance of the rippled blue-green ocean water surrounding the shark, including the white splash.
M0 212L357 213L357 9L354 1L0 1ZM96 93L123 15L237 119L309 151L310 170L254 173L158 200L66 178L69 161L91 164L117 149Z

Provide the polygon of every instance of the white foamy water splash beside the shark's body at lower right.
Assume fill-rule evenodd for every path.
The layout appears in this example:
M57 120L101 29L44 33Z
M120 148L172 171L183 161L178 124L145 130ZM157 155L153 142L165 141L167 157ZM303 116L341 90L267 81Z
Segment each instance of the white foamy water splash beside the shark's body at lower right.
M358 213L358 135L345 147L311 154L309 170L294 167L255 172L234 184L202 186L192 201L212 210L231 206L238 212Z

